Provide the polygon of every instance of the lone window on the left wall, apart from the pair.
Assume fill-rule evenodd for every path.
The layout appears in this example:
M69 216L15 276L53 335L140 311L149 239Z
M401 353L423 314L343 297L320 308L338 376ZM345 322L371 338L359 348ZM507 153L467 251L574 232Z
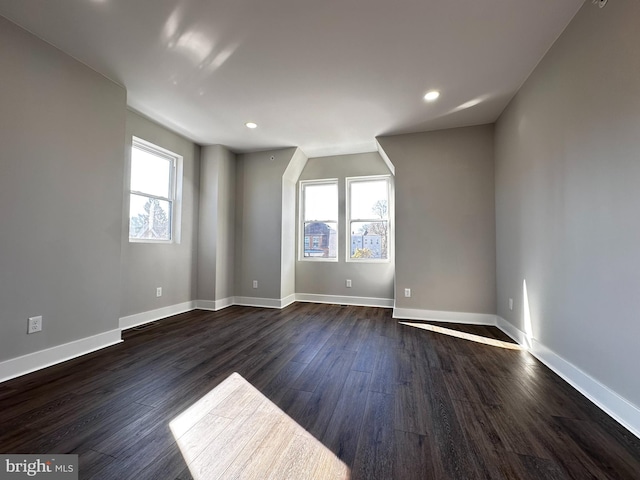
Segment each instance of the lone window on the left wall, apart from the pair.
M182 157L133 137L129 190L129 241L171 242L176 166Z

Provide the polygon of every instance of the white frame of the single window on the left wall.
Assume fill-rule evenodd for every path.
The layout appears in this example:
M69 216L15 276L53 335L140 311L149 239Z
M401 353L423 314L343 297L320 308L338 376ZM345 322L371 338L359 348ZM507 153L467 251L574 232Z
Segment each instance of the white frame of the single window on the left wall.
M132 166L133 166L133 149L137 148L143 150L151 155L165 159L169 161L169 197L161 195L153 195L150 193L142 192L139 190L133 190L132 185ZM160 147L154 143L151 143L142 138L132 135L131 137L131 149L129 151L129 188L128 188L128 212L127 212L127 226L128 226L128 238L129 243L160 243L160 244L172 244L179 243L179 181L178 173L182 166L182 156L175 152ZM156 199L166 201L169 203L169 238L138 238L131 236L131 197L137 195L146 197L149 199Z

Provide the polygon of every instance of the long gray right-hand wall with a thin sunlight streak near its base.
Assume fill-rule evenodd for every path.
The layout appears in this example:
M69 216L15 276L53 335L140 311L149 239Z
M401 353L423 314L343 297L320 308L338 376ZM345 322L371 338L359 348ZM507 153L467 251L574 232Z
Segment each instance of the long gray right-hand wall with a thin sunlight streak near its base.
M640 406L640 2L586 2L496 127L498 314ZM514 310L508 299L514 299Z

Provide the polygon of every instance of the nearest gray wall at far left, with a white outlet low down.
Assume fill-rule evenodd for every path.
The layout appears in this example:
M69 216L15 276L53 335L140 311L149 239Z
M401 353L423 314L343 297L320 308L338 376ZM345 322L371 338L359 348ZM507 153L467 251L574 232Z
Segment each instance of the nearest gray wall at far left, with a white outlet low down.
M0 45L6 360L118 328L126 93L2 17Z

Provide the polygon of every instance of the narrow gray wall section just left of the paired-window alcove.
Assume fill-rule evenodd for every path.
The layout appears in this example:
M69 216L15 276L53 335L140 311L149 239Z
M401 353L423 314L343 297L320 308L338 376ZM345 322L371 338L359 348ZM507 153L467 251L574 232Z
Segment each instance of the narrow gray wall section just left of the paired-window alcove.
M282 298L282 182L296 152L287 148L237 156L236 296Z

